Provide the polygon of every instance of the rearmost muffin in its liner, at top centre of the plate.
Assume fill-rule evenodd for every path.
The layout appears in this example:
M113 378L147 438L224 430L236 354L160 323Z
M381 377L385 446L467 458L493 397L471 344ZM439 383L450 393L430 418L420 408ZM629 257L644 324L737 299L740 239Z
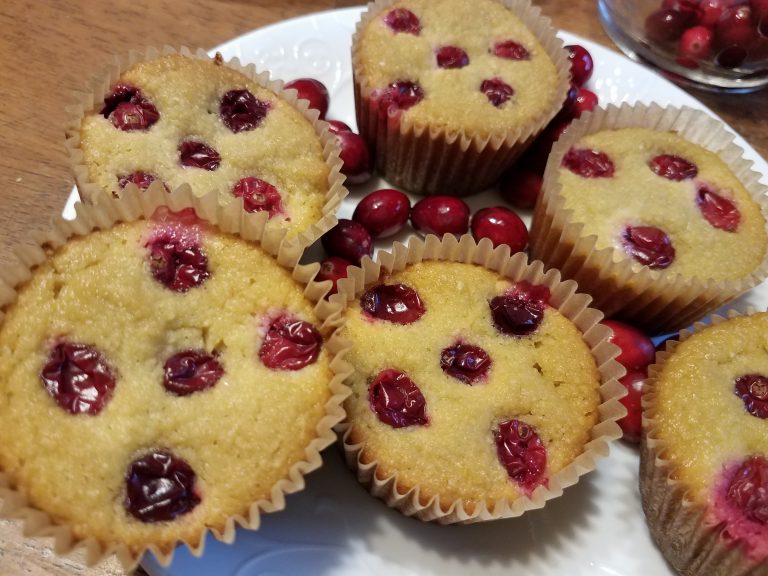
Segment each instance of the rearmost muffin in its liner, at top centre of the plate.
M352 39L360 134L389 182L492 185L562 105L569 67L528 0L381 0Z

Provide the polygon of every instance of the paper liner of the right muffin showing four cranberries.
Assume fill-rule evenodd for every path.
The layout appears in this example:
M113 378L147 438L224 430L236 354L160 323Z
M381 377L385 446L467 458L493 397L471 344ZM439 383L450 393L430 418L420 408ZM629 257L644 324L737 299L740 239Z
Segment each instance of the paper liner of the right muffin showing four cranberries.
M565 153L583 136L628 127L674 131L718 154L760 205L768 222L768 188L760 184L760 174L752 169L752 162L744 158L744 151L721 122L688 107L611 105L584 114L555 143L534 209L530 252L533 258L558 268L565 278L576 280L606 316L618 316L651 333L677 330L762 282L768 276L768 249L751 274L734 280L686 278L652 270L614 248L598 249L597 238L584 235L583 223L573 221L572 211L564 208L558 169Z

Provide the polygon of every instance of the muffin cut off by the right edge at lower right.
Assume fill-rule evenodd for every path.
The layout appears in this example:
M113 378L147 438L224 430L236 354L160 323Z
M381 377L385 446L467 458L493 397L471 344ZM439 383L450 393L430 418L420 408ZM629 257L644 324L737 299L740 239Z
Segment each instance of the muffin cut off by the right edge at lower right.
M643 508L681 574L768 574L767 335L766 313L715 317L650 369Z

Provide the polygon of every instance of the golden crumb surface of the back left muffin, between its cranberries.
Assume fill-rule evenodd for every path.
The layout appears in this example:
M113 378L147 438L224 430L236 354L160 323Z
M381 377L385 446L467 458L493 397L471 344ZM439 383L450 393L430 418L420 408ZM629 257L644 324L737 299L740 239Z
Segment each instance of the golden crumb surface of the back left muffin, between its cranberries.
M105 117L105 104L98 102L83 119L84 163L104 193L119 192L121 179L145 173L169 189L189 184L198 195L215 190L231 201L238 182L259 178L280 195L279 207L269 205L271 226L295 236L321 218L329 188L322 145L311 123L270 90L224 64L180 55L135 64L119 85L138 89L159 117L145 129L124 130L113 124L108 109ZM233 131L222 117L222 101L242 90L266 109L258 109L263 118L255 127ZM239 105L233 108L242 113ZM210 147L219 156L217 167L183 165L183 142Z

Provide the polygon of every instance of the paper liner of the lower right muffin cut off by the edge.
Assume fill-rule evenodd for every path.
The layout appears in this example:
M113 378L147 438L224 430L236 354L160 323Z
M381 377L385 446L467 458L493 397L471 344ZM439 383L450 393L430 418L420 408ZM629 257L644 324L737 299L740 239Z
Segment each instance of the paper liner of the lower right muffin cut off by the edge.
M746 314L752 313L749 309ZM738 316L730 310L725 317L712 316L718 325ZM694 502L686 486L677 479L675 465L665 455L666 443L658 437L656 384L668 358L681 342L706 330L708 324L697 322L682 330L679 341L668 340L656 362L648 368L643 392L643 435L640 445L640 494L643 510L656 545L680 574L689 576L765 576L768 564L755 565L734 545L726 545L723 526L707 521L706 507Z

